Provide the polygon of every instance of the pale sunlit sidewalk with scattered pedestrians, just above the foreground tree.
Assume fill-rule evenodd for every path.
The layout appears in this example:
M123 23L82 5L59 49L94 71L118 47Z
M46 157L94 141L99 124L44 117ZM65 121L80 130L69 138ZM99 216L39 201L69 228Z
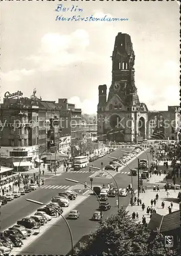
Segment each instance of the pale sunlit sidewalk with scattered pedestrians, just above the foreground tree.
M145 204L145 209L144 211L142 210L142 206L141 205L135 205L135 206L131 206L129 204L129 206L127 207L126 210L129 211L129 215L132 216L132 213L133 211L135 212L135 214L138 212L139 214L139 221L142 222L142 217L143 215L146 217L146 222L147 224L149 223L150 221L150 214L148 215L146 213L146 208L147 206L151 206L151 199L154 200L155 198L155 195L158 194L159 195L159 200L156 202L156 205L154 207L154 204L153 204L153 208L156 210L156 213L157 214L160 214L160 215L167 215L169 212L168 212L168 206L170 205L171 201L173 202L173 208L172 208L172 212L173 211L176 211L176 210L179 210L179 204L178 204L178 200L177 200L177 196L178 196L178 192L180 191L180 189L178 190L172 190L170 189L169 192L170 192L170 196L167 197L166 195L166 191L165 189L160 189L159 192L155 192L153 191L153 189L149 189L149 190L146 190L145 193L140 193L140 198L142 200L142 203ZM138 195L136 195L137 197ZM163 209L161 204L162 204L162 201L165 202L165 208Z

